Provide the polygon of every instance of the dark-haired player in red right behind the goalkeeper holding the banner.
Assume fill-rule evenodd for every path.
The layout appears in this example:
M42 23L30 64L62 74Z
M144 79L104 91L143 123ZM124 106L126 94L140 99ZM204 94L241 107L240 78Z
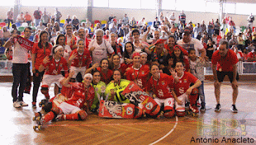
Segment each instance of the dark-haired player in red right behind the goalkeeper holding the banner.
M127 64L121 63L121 57L119 54L114 54L111 58L111 70L114 71L115 69L121 70L121 77L124 77L126 73Z

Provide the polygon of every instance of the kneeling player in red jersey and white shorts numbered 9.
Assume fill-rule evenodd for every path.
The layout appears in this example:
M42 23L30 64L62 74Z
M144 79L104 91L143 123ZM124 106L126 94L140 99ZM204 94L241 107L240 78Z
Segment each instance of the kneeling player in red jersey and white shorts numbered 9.
M178 100L173 91L173 77L165 73L160 73L159 67L156 64L151 65L150 73L152 77L149 78L149 82L147 83L147 93L149 94L149 91L153 91L154 101L159 106L164 104L164 116L167 118L173 117L175 114L173 109L174 98Z

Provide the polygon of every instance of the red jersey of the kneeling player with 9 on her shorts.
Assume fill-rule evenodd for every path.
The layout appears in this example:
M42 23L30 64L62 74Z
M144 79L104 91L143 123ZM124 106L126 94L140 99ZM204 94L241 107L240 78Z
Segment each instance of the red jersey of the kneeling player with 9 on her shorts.
M172 89L174 86L174 79L168 74L160 73L159 80L150 77L147 83L146 91L153 91L159 99L167 99L173 97Z

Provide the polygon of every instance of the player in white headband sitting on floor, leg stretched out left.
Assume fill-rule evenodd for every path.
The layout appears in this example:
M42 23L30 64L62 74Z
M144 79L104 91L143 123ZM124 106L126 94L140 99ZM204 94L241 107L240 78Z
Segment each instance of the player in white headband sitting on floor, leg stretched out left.
M53 107L49 113L40 119L40 124L45 124L51 119L60 120L84 120L90 113L89 108L94 98L94 89L91 86L92 74L87 73L83 77L83 82L69 82L74 72L69 73L69 77L65 78L61 83L64 86L61 93L69 98L62 102L59 107ZM86 109L82 110L82 109Z

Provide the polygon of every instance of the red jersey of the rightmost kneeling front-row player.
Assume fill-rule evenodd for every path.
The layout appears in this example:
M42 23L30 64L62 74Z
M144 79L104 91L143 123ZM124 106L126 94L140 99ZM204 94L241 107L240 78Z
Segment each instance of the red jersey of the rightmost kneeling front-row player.
M190 72L183 72L182 77L178 77L178 82L174 84L174 91L177 96L183 95L190 87L191 83L196 83L197 77L193 76Z

